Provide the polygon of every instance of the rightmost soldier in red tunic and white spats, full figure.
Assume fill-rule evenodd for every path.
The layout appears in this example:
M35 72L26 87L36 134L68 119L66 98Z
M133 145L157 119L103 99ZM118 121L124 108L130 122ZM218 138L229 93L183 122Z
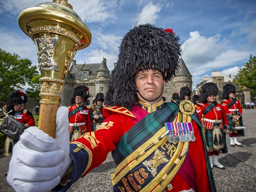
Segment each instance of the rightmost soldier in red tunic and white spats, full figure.
M222 105L228 117L229 125L229 143L232 147L235 145L243 147L241 143L237 141L237 133L244 136L244 129L237 130L234 125L234 121L239 122L239 126L243 126L242 121L242 107L239 100L235 98L236 87L232 84L226 84L223 87Z

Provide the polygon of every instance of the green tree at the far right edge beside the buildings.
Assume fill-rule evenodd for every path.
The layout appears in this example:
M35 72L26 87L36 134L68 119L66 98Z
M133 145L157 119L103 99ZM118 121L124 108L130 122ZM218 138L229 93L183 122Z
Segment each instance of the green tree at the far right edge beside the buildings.
M250 60L240 68L238 74L235 76L234 81L241 87L246 86L251 90L251 93L256 92L256 57L250 55Z

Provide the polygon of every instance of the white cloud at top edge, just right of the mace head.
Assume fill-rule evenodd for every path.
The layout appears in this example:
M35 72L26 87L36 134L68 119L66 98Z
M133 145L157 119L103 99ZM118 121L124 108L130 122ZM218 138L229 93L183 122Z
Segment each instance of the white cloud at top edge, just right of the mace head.
M117 1L103 0L70 0L73 10L80 16L85 23L101 22L104 23L108 19L115 19L115 10Z

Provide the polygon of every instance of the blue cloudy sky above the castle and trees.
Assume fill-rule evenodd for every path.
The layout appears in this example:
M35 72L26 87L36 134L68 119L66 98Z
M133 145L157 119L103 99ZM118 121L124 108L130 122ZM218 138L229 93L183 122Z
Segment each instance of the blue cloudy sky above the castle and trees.
M47 1L47 0L46 0ZM37 64L36 45L20 30L20 11L44 0L1 0L0 48ZM220 70L232 77L250 54L256 54L255 0L68 0L92 32L92 43L76 53L77 63L100 63L114 68L118 46L132 26L151 23L173 28L180 35L182 58L193 76L200 79Z

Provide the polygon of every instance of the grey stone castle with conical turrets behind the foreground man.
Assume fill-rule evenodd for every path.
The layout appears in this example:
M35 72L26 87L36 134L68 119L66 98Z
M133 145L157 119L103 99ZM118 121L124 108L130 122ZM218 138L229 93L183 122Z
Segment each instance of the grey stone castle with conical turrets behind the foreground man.
M172 93L180 92L180 88L188 86L192 88L192 75L182 58L179 62L179 70L176 76L172 78L164 87L164 97L166 101L171 101ZM78 85L85 85L89 87L90 92L90 105L96 94L99 92L106 93L108 89L110 71L107 67L107 60L103 58L101 63L92 64L76 64L73 60L69 69L68 75L64 78L66 82L63 87L60 106L69 106L73 90Z

